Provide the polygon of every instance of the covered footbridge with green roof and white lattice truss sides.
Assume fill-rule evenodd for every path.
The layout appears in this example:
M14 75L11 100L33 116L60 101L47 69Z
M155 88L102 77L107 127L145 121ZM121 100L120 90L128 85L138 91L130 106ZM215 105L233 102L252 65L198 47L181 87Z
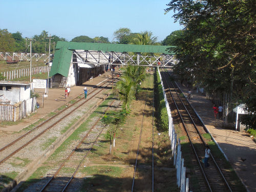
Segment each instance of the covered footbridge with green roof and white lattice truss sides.
M175 53L168 52L171 46L99 44L88 42L58 41L50 76L57 73L66 76L70 63L78 65L138 65L173 66Z

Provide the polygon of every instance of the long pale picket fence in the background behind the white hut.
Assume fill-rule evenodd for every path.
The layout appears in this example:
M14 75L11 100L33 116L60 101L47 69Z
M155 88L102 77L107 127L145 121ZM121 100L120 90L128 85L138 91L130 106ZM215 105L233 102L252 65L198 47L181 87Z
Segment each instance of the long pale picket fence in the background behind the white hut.
M34 67L31 68L31 75L40 74L40 73L47 73L49 66L41 66L41 67ZM51 67L49 71L51 70ZM1 72L5 79L4 80L13 80L15 78L27 77L30 75L30 69L17 69L12 71L5 71Z

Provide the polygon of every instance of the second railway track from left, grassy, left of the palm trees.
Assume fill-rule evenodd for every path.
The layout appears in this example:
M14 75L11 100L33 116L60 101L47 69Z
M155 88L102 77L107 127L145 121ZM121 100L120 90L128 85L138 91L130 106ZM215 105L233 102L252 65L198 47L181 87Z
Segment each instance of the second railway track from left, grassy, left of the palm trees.
M114 103L115 102L115 103ZM114 105L113 105L114 103ZM120 101L113 100L108 108L105 109L104 113L110 109L111 106L118 107L120 105ZM103 116L103 115L102 115ZM80 142L73 148L72 152L68 155L68 157L63 160L59 168L55 171L52 177L44 183L44 184L36 184L36 191L72 191L73 187L72 180L75 178L78 169L84 162L84 159L88 156L92 147L97 142L99 136L104 130L105 126L98 125L100 116L97 119L94 119L94 124L91 126L90 130L83 136ZM81 153L85 153L85 155L81 155ZM74 172L65 172L65 169L73 169ZM63 170L64 169L64 170ZM74 186L76 187L76 186ZM71 188L71 189L69 189Z

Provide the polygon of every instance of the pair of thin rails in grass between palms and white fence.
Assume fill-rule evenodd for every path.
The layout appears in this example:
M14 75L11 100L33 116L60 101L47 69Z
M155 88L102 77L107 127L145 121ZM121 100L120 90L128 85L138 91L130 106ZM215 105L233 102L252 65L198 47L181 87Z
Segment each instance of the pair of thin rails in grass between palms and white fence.
M147 89L148 90L148 89ZM141 136L143 131L143 121L145 116L145 107L147 104L147 98L148 95L145 95L145 104L144 109L142 111L142 119L141 119L141 127L140 127L140 137L138 142L138 148L137 148L137 154L136 154L136 161L134 166L134 174L133 174L133 183L132 183L132 192L135 191L135 176L137 173L137 167L138 167L138 156L139 156L139 149L140 149L140 143L141 143ZM153 108L152 108L152 191L154 191L154 92L153 92Z

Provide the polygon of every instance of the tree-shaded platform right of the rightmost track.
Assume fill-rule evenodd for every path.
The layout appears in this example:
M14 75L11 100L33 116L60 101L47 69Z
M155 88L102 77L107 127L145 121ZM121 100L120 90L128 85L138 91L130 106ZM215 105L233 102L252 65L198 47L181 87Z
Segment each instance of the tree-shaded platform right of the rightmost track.
M189 89L178 82L177 84L186 95ZM246 132L223 128L222 120L214 117L213 103L201 93L193 93L193 98L189 99L189 102L220 146L247 191L256 192L256 143L254 140Z

